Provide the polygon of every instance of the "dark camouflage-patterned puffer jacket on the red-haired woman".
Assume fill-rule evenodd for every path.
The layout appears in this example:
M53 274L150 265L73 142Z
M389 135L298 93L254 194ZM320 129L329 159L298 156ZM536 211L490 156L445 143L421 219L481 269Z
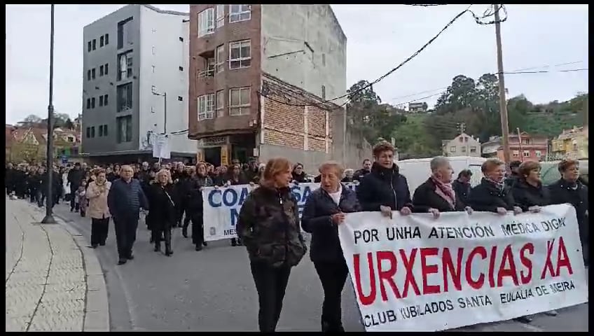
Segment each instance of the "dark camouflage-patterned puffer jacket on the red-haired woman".
M252 262L272 267L296 266L307 251L299 228L297 200L289 188L261 186L252 191L241 207L237 236Z

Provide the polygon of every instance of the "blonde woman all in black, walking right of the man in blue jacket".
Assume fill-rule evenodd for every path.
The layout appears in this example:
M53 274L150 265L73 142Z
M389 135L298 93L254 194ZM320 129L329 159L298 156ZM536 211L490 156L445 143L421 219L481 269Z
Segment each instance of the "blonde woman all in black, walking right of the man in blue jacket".
M146 216L149 227L155 239L155 251L161 251L161 238L165 237L165 255L173 254L171 248L171 228L177 221L177 210L173 199L174 186L171 174L167 169L161 169L156 175L156 181L148 189L148 206L150 211Z

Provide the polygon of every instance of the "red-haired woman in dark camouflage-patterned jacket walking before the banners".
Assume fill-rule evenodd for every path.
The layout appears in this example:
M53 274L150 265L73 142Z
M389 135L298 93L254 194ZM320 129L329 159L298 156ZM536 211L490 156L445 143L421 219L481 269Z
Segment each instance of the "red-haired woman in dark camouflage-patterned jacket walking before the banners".
M258 291L258 325L273 332L279 321L291 267L307 248L299 228L297 199L291 189L291 164L268 161L260 187L246 198L237 220L237 235L247 248Z

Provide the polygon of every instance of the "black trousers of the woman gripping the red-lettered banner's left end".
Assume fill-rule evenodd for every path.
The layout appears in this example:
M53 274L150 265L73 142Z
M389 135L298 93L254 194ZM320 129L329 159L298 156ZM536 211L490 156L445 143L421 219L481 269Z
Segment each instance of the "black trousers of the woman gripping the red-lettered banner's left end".
M343 326L340 298L349 274L345 262L314 262L319 281L324 289L322 304L322 331L341 331Z

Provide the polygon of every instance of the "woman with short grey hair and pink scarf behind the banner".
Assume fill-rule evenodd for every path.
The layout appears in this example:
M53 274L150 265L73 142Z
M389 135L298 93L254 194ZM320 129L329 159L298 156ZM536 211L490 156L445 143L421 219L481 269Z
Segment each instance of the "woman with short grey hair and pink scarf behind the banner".
M415 212L429 212L435 218L439 217L440 212L447 211L468 211L471 214L472 208L464 207L452 188L454 169L450 161L443 156L436 156L429 162L429 167L431 176L413 195Z

